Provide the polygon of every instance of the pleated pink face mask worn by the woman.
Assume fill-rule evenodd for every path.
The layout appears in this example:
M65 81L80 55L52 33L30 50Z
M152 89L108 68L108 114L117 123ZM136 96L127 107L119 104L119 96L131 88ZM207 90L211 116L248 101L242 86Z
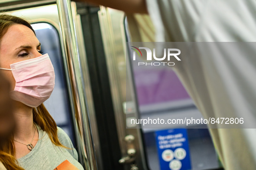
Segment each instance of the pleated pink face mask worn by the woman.
M10 96L30 107L38 107L52 94L55 85L55 73L48 54L10 65L16 81Z

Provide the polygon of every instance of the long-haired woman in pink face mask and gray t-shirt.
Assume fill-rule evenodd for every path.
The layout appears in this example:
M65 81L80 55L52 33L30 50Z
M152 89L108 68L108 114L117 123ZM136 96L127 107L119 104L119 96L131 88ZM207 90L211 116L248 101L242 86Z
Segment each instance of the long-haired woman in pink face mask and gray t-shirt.
M52 93L55 74L40 45L28 22L0 15L0 72L13 90L10 97L16 121L12 138L2 147L13 157L0 157L0 161L7 169L12 169L16 159L19 169L83 170L68 135L56 126L42 104Z

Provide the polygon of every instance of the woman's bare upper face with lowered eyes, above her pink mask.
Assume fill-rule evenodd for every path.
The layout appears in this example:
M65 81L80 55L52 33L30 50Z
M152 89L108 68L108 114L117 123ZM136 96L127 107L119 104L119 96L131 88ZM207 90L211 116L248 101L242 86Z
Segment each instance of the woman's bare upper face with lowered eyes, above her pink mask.
M40 43L34 32L25 25L11 25L0 42L0 67L10 69L10 64L41 56ZM11 89L15 87L15 79L11 71L0 70L10 82Z

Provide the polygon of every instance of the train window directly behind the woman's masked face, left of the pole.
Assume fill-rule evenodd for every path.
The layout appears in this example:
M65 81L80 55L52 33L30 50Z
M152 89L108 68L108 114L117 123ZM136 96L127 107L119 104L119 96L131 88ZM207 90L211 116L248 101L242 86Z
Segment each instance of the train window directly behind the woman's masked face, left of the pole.
M68 87L64 74L58 31L51 24L45 22L34 23L32 27L36 31L36 37L42 44L41 50L43 54L49 54L55 72L55 87L51 97L44 102L45 107L52 115L57 126L61 127L69 135L75 145Z

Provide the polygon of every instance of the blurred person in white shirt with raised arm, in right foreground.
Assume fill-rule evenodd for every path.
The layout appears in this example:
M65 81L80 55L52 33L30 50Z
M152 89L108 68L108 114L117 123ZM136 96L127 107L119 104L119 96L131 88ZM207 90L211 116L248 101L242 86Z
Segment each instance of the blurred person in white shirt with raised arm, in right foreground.
M87 1L125 11L128 22L139 18L133 13L148 13L155 27L156 42L256 41L254 0ZM129 22L132 39L143 41L138 36L147 28L135 23L139 22ZM204 117L240 116L255 123L255 47L248 43L248 50L234 57L233 49L227 51L219 46L216 56L183 57L175 71ZM254 170L256 129L246 129L242 124L237 127L210 129L212 139L225 169Z

